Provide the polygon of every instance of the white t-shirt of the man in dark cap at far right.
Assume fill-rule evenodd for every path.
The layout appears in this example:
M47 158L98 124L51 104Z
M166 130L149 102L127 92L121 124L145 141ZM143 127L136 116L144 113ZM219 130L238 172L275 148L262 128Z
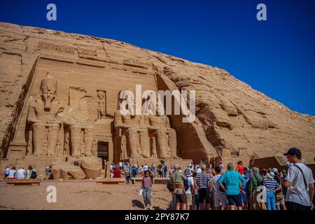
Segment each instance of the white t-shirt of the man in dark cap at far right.
M289 181L291 185L286 193L286 202L295 202L304 206L310 206L311 202L307 191L309 190L309 183L314 183L313 174L311 173L311 169L301 162L296 163L295 165L302 169L307 186L305 188L305 183L302 176L303 174L300 169L294 165L288 167L285 180Z

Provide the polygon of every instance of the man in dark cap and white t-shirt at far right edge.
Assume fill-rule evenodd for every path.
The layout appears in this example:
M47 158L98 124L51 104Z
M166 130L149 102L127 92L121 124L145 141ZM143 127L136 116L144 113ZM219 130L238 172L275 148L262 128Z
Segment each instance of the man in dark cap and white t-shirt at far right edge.
M311 169L301 162L302 153L298 148L290 148L283 155L292 164L288 167L283 181L283 186L288 188L286 193L288 210L313 209L314 178Z

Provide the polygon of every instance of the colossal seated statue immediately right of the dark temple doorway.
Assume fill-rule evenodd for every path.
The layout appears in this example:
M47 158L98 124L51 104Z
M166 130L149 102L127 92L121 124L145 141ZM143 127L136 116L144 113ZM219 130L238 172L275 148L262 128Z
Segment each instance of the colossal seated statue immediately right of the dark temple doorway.
M124 91L124 90L123 90ZM130 149L130 158L148 158L149 138L148 130L144 123L143 115L132 115L130 106L134 106L134 99L128 98L127 94L120 92L121 102L127 101L127 113L116 111L114 116L114 125L116 135L125 135L127 139L127 148Z

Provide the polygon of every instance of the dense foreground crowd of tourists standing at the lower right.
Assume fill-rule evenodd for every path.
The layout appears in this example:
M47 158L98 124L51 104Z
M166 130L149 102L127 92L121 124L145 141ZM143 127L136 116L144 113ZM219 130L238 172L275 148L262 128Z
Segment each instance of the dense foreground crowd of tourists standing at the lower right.
M314 209L314 178L302 162L297 148L285 153L288 167L258 169L220 162L208 169L202 161L184 171L171 169L167 188L173 195L173 209L179 210L310 210Z

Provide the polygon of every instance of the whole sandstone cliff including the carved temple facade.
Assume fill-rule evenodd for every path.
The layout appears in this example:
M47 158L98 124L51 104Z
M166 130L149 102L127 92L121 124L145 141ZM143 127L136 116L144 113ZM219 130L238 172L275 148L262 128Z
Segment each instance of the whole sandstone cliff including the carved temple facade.
M27 111L34 100L43 111L49 107L41 97L47 73L57 80L51 106L58 102L63 110L55 111L57 115L45 120L45 125L36 125L43 120L29 123ZM195 122L182 123L182 116L168 116L169 131L163 131L163 137L148 133L150 139L144 144L139 139L147 132L132 129L137 132L131 135L132 142L138 144L128 146L130 132L115 126L115 113L118 94L135 92L135 85L142 85L143 92L195 90ZM39 154L59 158L96 157L102 146L107 148L109 162L131 158L131 150L134 157L195 162L225 157L248 163L251 158L283 157L293 146L301 149L308 163L315 156L313 116L290 111L223 69L111 39L1 23L0 90L1 158L10 162L34 154L34 133L38 137L39 127L46 130L38 137L42 139ZM53 134L56 139L49 133L58 133ZM166 143L166 138L174 137L176 141Z

